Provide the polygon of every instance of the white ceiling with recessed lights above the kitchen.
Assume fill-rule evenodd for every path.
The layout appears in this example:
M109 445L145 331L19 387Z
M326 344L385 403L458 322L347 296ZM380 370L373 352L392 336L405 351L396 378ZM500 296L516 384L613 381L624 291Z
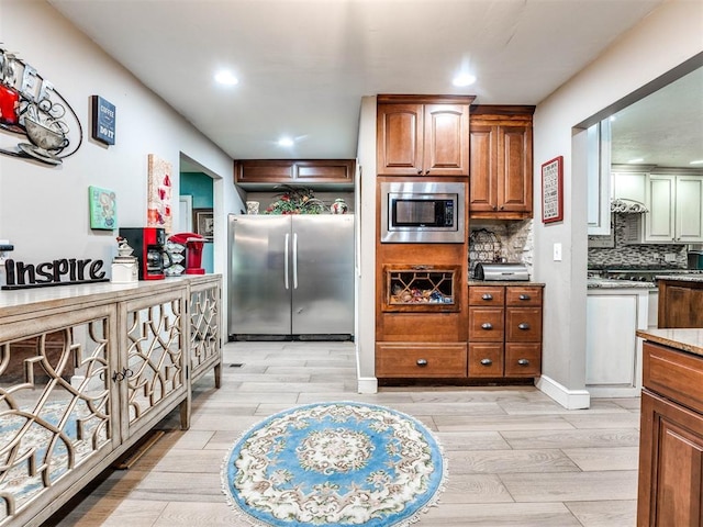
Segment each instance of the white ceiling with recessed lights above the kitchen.
M538 104L662 1L48 0L235 159L354 158L364 96Z

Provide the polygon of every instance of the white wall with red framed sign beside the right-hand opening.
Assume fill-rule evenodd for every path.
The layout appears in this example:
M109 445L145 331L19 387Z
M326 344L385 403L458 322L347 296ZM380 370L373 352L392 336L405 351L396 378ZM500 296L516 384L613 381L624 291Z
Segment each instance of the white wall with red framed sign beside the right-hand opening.
M668 0L535 112L535 280L546 283L539 388L567 407L589 405L584 390L587 184L583 134L574 136L573 127L615 113L626 105L623 98L702 53L703 2ZM540 165L556 156L565 159L565 220L545 225L538 220ZM562 261L551 259L555 243L562 244Z

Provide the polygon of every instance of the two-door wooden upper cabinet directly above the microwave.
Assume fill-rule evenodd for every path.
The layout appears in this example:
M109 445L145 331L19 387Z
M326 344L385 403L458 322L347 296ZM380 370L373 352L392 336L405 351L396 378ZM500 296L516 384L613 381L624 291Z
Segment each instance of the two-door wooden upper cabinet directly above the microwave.
M377 171L468 176L472 97L379 96Z

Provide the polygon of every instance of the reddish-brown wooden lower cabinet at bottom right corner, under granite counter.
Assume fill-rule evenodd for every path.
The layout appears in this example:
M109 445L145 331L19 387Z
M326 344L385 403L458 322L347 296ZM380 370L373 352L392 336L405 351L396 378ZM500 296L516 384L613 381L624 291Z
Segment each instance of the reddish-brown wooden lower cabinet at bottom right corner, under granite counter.
M644 344L638 527L703 525L703 358Z

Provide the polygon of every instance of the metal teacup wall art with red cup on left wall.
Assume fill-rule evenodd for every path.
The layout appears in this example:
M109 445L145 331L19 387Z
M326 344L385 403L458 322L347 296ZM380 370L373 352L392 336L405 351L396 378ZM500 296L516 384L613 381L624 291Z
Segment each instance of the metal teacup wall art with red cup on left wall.
M57 166L82 143L68 101L35 68L0 47L0 154Z

